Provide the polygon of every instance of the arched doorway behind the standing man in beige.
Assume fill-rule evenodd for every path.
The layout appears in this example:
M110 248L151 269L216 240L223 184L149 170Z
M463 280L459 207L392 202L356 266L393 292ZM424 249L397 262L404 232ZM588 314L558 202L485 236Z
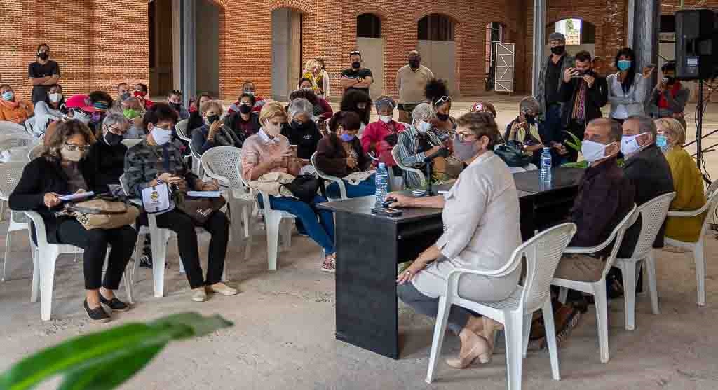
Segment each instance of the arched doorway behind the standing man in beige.
M447 80L449 93L456 94L455 23L448 16L429 14L419 19L416 46L421 62L434 72L434 76Z

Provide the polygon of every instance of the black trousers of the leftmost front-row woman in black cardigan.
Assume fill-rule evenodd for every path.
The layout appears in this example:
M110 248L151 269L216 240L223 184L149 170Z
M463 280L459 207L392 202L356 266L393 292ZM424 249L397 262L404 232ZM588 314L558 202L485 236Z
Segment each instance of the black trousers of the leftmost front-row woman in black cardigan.
M131 226L116 229L87 230L75 219L65 219L57 227L57 237L61 244L70 244L85 249L83 267L85 290L98 290L101 286L108 290L120 287L122 273L132 257L137 233ZM105 280L102 280L102 267L105 263L107 246L111 245Z

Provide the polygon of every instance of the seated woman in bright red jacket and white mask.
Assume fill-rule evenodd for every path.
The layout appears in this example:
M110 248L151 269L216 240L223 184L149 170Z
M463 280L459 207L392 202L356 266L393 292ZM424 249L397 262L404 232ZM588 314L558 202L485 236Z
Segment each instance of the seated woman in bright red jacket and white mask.
M396 161L391 156L391 149L396 146L399 133L406 130L404 123L393 120L396 103L389 96L380 96L374 103L378 120L369 123L361 136L361 145L366 153L374 153L374 156L387 168L396 166ZM398 173L395 171L395 173ZM401 174L401 173L398 173Z

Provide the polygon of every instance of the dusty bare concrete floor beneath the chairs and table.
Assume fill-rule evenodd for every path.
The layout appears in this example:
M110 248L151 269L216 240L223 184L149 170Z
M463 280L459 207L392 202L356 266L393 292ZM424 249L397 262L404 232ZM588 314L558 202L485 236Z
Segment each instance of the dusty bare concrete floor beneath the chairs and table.
M497 101L498 99L494 99ZM518 98L503 98L499 123L516 113ZM457 102L457 113L468 107ZM710 108L709 110L714 110ZM714 110L715 111L715 110ZM710 115L708 128L718 124ZM718 142L718 141L713 141ZM709 165L718 174L718 157ZM6 222L0 225L4 237ZM505 389L505 354L498 346L493 361L463 371L439 365L439 379L424 383L434 321L400 307L403 352L393 361L334 339L334 277L320 272L320 249L309 239L294 237L279 257L279 270L267 272L261 224L254 226L250 260L243 260L243 242L230 242L231 284L236 297L190 301L189 285L179 273L176 244L169 244L164 298L152 296L151 272L141 269L136 304L108 325L91 325L82 308L82 262L61 257L55 277L53 320L39 320L39 304L29 303L32 269L27 234L14 233L6 282L0 282L0 370L28 353L65 338L131 321L195 310L220 313L235 323L197 340L174 343L123 389ZM637 303L637 328L623 328L623 300L610 303L610 354L600 363L593 307L559 350L561 381L551 379L549 356L531 348L523 363L524 389L716 389L718 387L718 242L707 237L707 302L696 307L695 271L691 254L658 251L657 275L661 315L652 315L648 296ZM1 246L4 247L4 244ZM207 242L200 247L202 257ZM341 261L341 260L340 260ZM118 294L123 298L123 291ZM453 336L443 356L458 352ZM57 381L40 386L51 389Z

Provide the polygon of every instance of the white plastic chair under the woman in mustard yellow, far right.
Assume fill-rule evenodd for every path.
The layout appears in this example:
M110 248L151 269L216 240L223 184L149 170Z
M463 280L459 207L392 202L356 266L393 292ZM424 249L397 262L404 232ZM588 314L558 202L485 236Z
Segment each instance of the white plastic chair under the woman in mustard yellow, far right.
M718 181L714 181L713 184L709 186L707 194L708 199L706 204L704 204L704 206L700 209L695 211L668 211L668 217L674 218L691 218L706 213L703 218L703 227L701 228L701 235L699 236L698 241L683 242L666 237L666 244L693 252L693 258L696 262L696 290L698 293L698 300L696 302L699 306L706 305L706 258L704 253L704 236L706 235L706 230L708 229L708 217L718 204Z

